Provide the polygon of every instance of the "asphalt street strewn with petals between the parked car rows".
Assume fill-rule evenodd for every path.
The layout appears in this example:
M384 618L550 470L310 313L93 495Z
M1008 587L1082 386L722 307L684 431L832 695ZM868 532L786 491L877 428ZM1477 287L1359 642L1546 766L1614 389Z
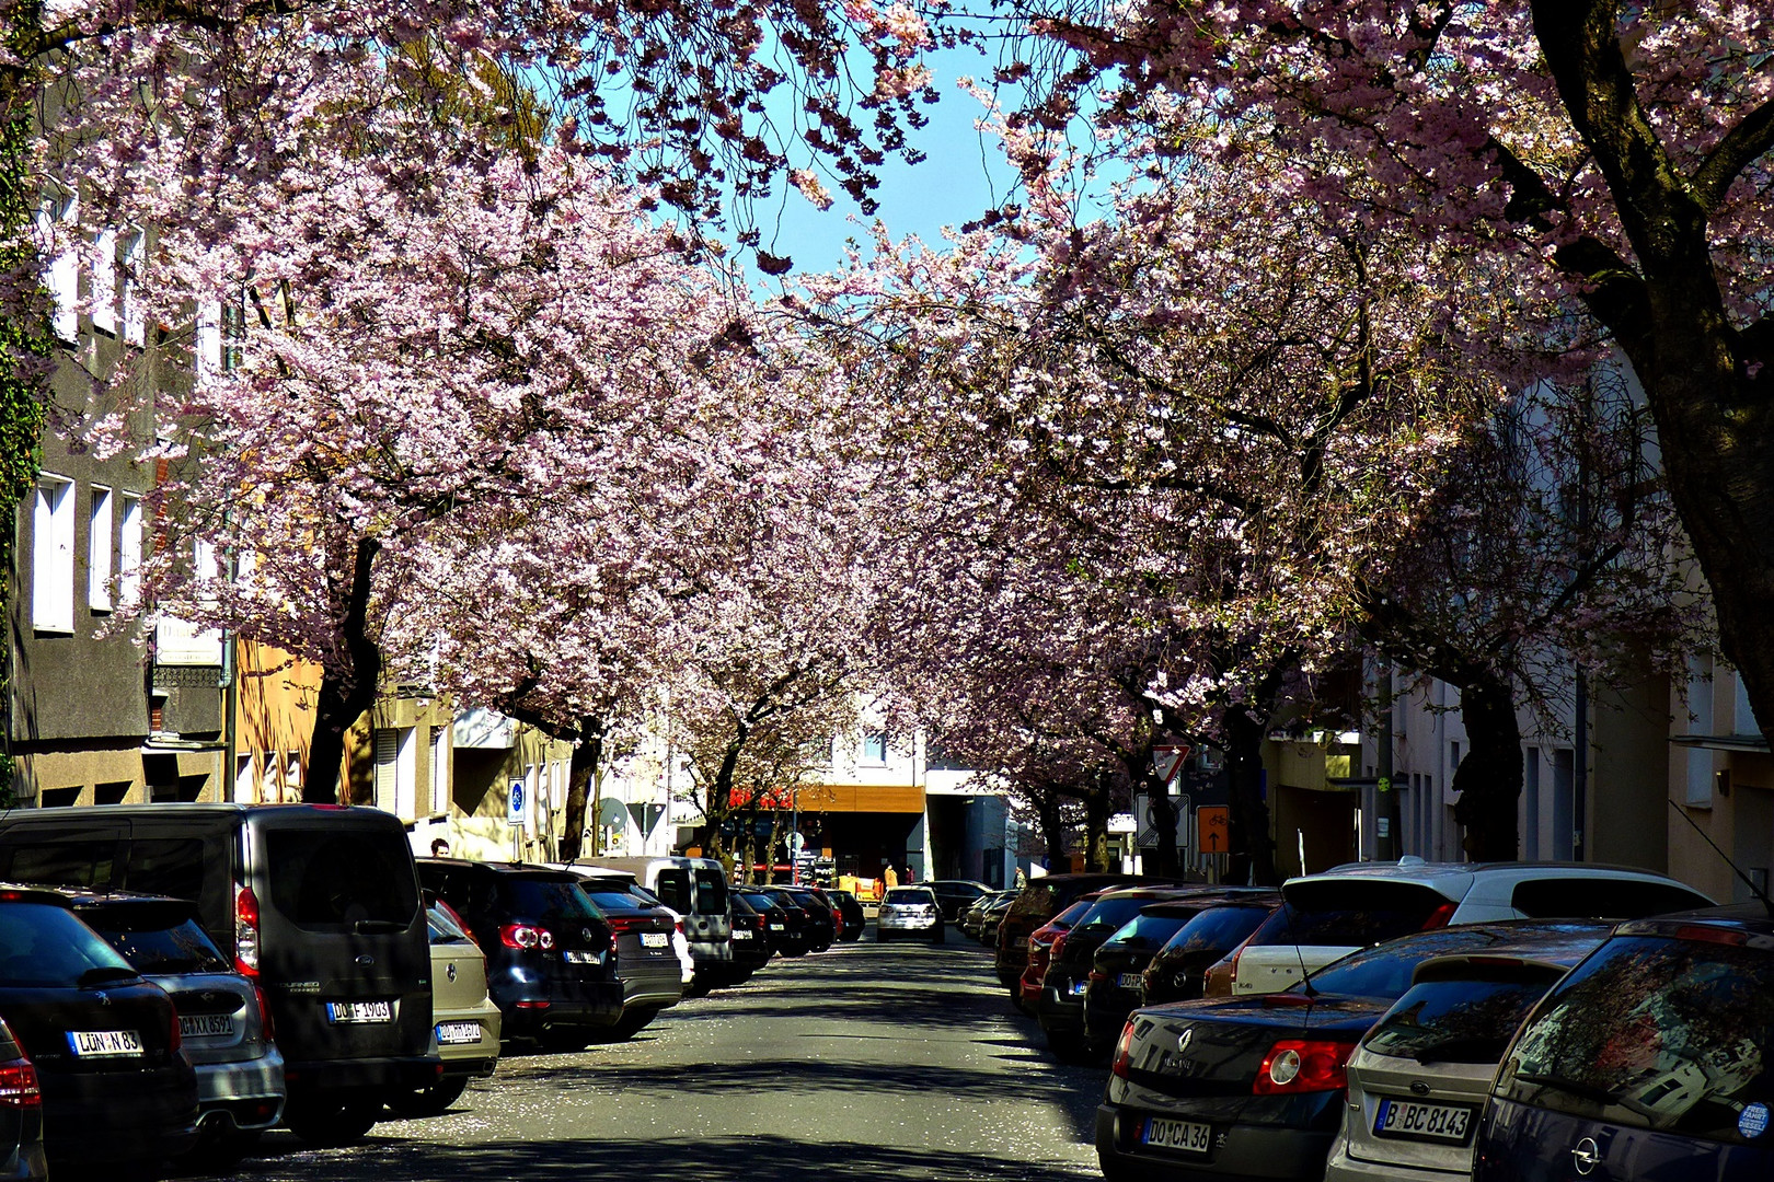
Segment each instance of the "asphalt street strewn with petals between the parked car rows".
M777 959L626 1044L511 1053L456 1109L349 1150L270 1134L234 1177L378 1182L1100 1178L1103 1072L1056 1063L986 950ZM206 1175L186 1175L206 1177Z

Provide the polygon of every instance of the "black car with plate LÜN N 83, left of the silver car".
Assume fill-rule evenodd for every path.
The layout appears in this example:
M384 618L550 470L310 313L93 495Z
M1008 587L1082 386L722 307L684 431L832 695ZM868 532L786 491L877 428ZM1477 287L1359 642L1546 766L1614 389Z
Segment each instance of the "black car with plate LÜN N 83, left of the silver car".
M0 1014L30 1054L57 1173L197 1145L197 1072L172 999L57 891L0 891Z

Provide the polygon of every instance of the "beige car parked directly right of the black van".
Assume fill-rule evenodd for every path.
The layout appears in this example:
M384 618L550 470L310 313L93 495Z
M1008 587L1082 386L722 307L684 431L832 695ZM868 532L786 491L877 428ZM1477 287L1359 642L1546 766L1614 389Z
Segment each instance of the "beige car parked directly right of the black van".
M389 1100L401 1116L436 1116L461 1099L470 1079L498 1065L498 1007L486 991L486 957L467 921L444 900L426 907L431 936L431 1030L444 1076L429 1088Z

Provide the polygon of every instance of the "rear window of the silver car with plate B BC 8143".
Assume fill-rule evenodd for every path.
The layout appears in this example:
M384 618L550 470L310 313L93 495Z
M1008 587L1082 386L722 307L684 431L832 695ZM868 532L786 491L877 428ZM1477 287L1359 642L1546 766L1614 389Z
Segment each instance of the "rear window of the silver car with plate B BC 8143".
M1538 980L1440 980L1412 985L1368 1035L1375 1054L1419 1063L1495 1063L1552 987Z

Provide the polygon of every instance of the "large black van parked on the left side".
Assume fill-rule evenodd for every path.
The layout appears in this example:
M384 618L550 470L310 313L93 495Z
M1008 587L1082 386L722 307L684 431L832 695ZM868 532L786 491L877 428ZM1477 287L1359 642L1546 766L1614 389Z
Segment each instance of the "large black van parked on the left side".
M436 1081L431 948L406 831L339 805L106 805L0 815L0 881L190 898L263 991L284 1124L353 1141Z

